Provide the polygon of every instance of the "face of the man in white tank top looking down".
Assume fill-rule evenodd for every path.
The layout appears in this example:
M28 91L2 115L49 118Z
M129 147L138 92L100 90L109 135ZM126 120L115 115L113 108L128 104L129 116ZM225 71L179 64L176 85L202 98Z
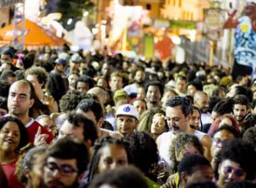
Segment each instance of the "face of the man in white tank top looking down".
M191 115L185 117L180 105L176 107L166 107L167 124L173 134L186 132L190 118Z

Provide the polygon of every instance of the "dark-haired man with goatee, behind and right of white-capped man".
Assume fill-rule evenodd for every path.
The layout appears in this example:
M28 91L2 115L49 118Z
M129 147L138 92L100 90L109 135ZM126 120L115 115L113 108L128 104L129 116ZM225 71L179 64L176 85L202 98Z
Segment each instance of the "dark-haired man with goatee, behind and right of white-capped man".
M147 109L161 107L160 99L164 93L164 87L159 81L149 81L145 85Z

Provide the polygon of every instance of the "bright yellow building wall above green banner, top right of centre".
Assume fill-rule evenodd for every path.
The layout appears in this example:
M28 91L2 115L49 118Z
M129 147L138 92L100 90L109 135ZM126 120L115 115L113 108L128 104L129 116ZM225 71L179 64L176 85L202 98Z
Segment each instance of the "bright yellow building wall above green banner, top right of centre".
M209 8L205 0L166 0L160 15L167 19L203 21L203 8Z

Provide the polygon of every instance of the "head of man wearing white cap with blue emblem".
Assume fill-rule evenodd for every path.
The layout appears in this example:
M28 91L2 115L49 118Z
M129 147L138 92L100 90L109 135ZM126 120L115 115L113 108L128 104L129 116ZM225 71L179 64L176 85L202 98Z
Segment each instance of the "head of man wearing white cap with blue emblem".
M125 104L119 106L115 115L117 130L123 135L132 133L137 128L137 124L139 124L139 113L133 105Z

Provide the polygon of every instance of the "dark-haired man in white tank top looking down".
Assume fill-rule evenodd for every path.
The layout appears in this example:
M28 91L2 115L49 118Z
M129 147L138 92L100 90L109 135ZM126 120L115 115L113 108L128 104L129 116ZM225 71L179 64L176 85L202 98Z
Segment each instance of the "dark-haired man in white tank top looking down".
M195 134L205 149L205 157L208 160L212 158L210 154L212 144L210 136L192 129L189 125L192 109L191 100L187 97L174 96L166 103L166 121L170 132L164 132L158 136L156 140L160 157L166 163L166 171L172 166L172 161L170 160L170 145L172 144L172 139L181 132Z

